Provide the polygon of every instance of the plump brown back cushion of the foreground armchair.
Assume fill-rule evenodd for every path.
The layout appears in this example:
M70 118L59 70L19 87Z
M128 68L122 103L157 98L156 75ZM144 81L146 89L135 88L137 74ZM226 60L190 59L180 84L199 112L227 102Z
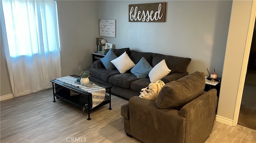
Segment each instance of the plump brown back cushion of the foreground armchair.
M157 97L156 107L180 109L204 91L203 72L194 72L178 80L168 82Z

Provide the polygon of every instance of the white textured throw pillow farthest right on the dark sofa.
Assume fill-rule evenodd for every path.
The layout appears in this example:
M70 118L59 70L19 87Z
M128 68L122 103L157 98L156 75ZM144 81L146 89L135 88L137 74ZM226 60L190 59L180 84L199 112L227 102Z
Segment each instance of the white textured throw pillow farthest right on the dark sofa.
M149 72L148 76L150 82L155 83L157 80L161 80L164 76L167 76L170 73L165 60L160 61L156 66Z

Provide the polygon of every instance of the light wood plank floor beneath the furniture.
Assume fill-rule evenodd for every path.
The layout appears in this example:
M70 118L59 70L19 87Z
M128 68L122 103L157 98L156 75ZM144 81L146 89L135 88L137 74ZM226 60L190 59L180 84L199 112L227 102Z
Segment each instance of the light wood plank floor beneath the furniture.
M124 133L120 107L128 100L112 96L108 104L87 114L61 100L52 89L0 102L1 143L140 143ZM72 140L73 139L73 140ZM206 143L256 143L256 130L214 123Z

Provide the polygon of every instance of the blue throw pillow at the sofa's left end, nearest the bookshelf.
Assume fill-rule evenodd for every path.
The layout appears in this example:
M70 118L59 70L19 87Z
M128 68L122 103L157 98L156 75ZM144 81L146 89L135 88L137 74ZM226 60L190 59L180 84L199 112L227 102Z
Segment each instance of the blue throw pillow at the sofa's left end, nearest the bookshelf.
M110 49L105 57L101 58L100 61L104 65L104 67L108 70L115 69L116 67L110 62L116 59L116 55L114 54L113 50Z

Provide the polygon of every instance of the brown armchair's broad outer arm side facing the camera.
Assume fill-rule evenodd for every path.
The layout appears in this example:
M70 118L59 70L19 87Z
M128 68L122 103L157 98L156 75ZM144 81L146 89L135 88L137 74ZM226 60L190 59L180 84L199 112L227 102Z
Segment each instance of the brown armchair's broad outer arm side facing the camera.
M134 96L129 100L129 115L132 136L142 142L184 141L186 118L180 116L178 110L160 109L155 102Z

